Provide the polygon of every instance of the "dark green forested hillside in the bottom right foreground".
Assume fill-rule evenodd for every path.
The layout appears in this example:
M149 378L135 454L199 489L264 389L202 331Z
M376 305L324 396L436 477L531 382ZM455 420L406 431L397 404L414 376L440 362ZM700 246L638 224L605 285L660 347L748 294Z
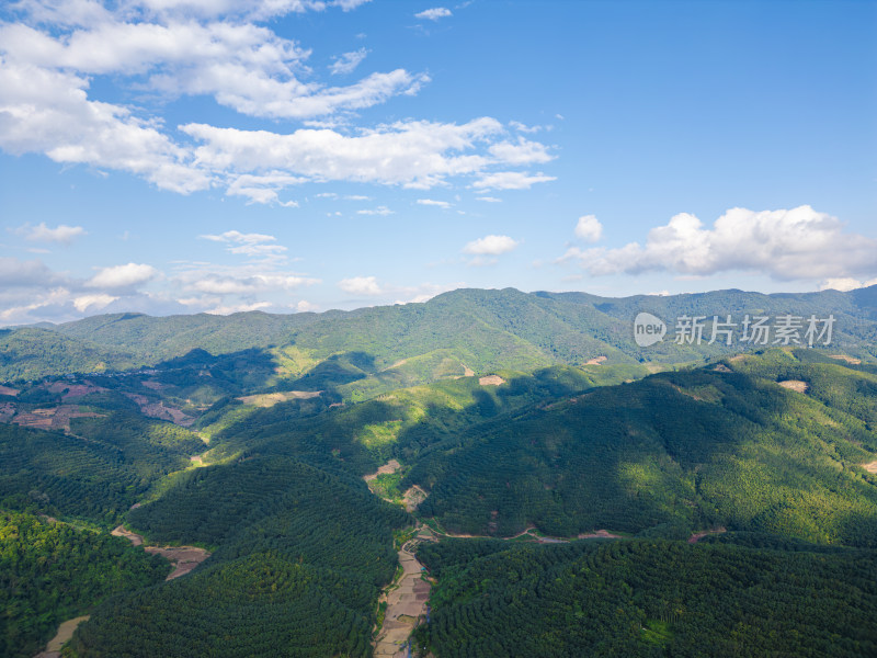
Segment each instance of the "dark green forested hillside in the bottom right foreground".
M438 586L418 645L460 658L877 654L875 552L722 540L426 545Z

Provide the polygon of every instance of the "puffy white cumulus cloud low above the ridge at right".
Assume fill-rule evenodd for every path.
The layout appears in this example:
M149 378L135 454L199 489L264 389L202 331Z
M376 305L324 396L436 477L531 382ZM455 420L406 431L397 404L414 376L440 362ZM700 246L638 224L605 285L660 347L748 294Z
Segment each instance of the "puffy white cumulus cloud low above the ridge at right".
M844 231L843 224L808 205L791 209L731 208L711 228L688 213L652 228L646 245L571 248L591 274L665 271L706 276L742 271L777 280L856 277L877 273L877 240Z

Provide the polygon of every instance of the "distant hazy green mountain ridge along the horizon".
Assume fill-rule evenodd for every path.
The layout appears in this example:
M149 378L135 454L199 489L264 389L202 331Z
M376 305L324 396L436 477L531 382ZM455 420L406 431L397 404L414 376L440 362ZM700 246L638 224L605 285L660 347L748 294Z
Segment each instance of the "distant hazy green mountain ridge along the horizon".
M745 314L834 315L832 344L867 354L877 337L876 298L877 286L850 293L720 291L620 299L505 288L458 290L423 304L323 314L253 311L163 318L117 314L9 330L0 336L0 354L5 354L0 377L151 366L194 349L214 355L259 349L270 353L291 381L332 355L357 353L362 356L356 367L363 377L395 377L398 386L462 374L464 366L479 373L533 370L580 365L599 356L607 363L683 363L741 349L721 341L693 345L669 339L640 348L633 340L633 320L640 311L663 318L671 337L676 318L685 315L704 316L707 337L714 316L724 320L730 314L739 322Z

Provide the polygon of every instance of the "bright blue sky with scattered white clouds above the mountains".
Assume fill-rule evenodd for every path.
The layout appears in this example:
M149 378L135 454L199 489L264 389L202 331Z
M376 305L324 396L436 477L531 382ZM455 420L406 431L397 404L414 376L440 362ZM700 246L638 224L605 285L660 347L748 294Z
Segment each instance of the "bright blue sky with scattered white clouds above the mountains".
M0 21L0 325L877 282L874 2Z

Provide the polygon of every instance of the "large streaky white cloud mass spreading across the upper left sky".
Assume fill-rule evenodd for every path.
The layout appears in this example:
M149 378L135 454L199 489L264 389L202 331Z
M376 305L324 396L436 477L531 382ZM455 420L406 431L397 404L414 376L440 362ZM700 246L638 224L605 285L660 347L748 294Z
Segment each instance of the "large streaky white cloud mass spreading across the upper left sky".
M553 180L509 171L554 158L526 126L481 117L462 124L407 120L351 127L360 110L415 94L430 81L402 68L346 86L320 81L311 50L269 21L288 13L349 11L362 0L23 0L0 23L0 148L56 162L124 171L163 190L225 189L252 204L295 207L305 182L352 181L430 189L457 177L478 189L527 189ZM433 13L430 13L433 12ZM438 12L438 13L435 13ZM447 13L443 13L447 12ZM449 15L443 8L424 15ZM338 57L352 72L367 52ZM92 84L136 92L143 106L98 100ZM145 95L144 95L145 92ZM168 126L159 100L205 97L253 117L309 126L272 131ZM315 123L316 122L316 123ZM520 129L519 129L520 127Z

